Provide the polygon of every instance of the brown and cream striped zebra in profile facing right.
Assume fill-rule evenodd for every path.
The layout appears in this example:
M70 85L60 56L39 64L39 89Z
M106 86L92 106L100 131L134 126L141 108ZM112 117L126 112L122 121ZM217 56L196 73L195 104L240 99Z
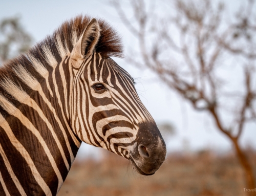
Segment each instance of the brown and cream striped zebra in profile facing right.
M111 57L121 39L79 15L0 68L0 195L56 195L81 142L153 175L166 145L134 79Z

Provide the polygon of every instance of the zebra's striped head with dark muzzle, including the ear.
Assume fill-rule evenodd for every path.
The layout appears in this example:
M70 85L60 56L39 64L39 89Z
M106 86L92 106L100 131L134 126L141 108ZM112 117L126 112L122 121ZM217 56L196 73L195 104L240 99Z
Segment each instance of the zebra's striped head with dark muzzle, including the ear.
M101 30L92 19L74 46L70 120L80 140L131 160L152 175L165 160L166 146L155 121L140 101L133 78L97 52Z

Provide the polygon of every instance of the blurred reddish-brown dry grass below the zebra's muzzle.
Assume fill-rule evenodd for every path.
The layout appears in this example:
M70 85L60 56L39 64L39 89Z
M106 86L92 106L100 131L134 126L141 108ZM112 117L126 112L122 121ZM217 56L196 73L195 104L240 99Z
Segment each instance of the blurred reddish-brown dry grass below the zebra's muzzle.
M247 154L256 166L256 153ZM101 161L76 160L58 196L233 196L245 195L244 187L243 170L232 155L217 156L209 151L172 154L155 175L144 177L133 171L129 161L106 151Z

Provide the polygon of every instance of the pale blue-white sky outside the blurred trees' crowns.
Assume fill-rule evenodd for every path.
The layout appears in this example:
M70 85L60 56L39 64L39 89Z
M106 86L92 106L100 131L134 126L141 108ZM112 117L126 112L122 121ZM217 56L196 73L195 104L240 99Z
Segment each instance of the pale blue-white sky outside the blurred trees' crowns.
M25 29L34 37L35 42L51 34L65 20L78 14L88 14L106 19L123 38L124 47L130 45L133 36L120 23L115 10L108 6L108 1L18 1L0 0L0 19L19 15ZM227 1L231 2L231 1ZM234 4L234 1L232 1ZM179 96L171 92L149 70L139 70L127 64L123 59L116 59L118 64L137 80L136 89L148 111L157 123L169 121L176 128L176 135L165 138L167 151L183 149L184 141L193 150L211 148L227 151L231 143L216 130L205 113L194 112L192 107ZM141 82L141 83L140 83ZM256 125L246 126L241 142L243 146L256 146ZM97 148L82 145L79 157L84 154L97 154Z

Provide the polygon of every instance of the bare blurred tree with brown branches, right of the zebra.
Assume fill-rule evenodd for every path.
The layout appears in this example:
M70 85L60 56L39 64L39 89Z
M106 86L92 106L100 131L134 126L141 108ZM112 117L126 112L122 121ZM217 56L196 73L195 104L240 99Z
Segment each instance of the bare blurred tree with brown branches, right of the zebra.
M239 143L245 125L256 122L254 2L231 13L210 0L130 0L125 9L123 1L111 3L138 43L127 54L129 62L150 68L195 110L209 114L232 142L247 189L254 189L253 169Z

